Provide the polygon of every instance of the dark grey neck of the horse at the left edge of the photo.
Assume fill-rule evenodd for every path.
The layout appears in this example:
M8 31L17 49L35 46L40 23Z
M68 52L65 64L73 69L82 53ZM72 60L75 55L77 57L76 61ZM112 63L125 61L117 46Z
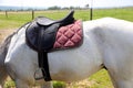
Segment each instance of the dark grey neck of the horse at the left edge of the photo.
M8 48L9 48L10 42L11 42L11 37L13 35L14 35L14 33L9 35L3 41L3 43L0 45L0 88L3 87L4 80L8 76L8 73L7 73L7 69L6 69L6 66L4 66L4 59L6 59L6 56L7 56L7 53L8 53Z

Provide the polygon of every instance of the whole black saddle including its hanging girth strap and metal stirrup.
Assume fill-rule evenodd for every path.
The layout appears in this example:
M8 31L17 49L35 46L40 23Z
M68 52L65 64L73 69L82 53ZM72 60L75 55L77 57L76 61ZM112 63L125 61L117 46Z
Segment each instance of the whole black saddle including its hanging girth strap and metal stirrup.
M74 22L74 11L71 11L64 19L54 21L49 18L39 16L33 20L25 30L27 44L38 52L39 67L43 77L34 78L45 81L51 80L49 73L48 52L53 47L58 29Z

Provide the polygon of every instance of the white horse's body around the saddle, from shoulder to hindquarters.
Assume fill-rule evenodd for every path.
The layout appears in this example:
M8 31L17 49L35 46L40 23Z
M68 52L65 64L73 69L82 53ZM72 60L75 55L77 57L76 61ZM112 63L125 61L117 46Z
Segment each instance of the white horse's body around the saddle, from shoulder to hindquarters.
M48 54L52 80L82 80L105 67L115 88L133 88L133 22L112 18L85 21L83 34L80 47ZM34 79L38 54L27 45L24 28L12 36L4 66L17 88L45 84Z

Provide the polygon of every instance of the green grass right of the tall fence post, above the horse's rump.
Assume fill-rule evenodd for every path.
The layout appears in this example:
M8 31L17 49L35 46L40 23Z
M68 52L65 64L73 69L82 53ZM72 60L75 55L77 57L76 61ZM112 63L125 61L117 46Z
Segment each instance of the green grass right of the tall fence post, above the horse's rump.
M101 9L94 11L94 19L101 16L112 16L123 20L133 21L133 8L123 8L123 9Z

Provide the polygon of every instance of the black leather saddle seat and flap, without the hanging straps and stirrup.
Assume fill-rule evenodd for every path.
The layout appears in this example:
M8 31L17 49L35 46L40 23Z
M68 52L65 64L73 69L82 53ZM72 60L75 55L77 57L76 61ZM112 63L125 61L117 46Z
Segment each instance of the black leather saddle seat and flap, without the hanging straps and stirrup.
M55 41L55 33L60 26L73 23L74 11L64 19L54 21L49 18L39 16L27 28L25 37L28 44L35 51L49 51Z

